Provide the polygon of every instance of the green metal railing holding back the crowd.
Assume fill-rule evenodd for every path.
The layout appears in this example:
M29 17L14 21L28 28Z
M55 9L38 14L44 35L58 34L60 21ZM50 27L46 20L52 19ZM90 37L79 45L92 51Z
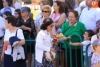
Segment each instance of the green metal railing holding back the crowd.
M74 42L73 38L76 38L76 42L82 42L82 37L79 36L78 34L71 35L72 42ZM29 40L26 40L26 42L35 42L35 40L29 39ZM66 47L64 48L64 50L62 49L62 45ZM86 67L89 67L89 61L88 61L88 47L89 46L90 45L86 47ZM30 48L31 48L31 45L30 45ZM34 45L34 49L35 49L35 45ZM64 63L61 61L63 54L64 54L64 60L63 60ZM58 66L62 67L61 64L63 64L64 67L84 67L83 47L70 45L68 48L64 40L59 40L59 51L57 51L56 59L59 59L59 60L57 60L55 67L58 67ZM35 67L35 56L34 56L34 67Z

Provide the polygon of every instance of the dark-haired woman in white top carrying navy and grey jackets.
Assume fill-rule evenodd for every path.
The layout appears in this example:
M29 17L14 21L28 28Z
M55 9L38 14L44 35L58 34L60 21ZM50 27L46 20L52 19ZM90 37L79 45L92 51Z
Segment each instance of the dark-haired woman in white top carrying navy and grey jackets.
M25 54L23 54L24 48L22 47L25 44L23 32L16 27L15 18L13 16L7 17L5 20L7 29L4 35L4 47L1 56L1 60L4 61L4 67L26 67ZM14 36L19 39L15 45L12 43L13 40L10 40ZM15 41L17 41L15 37ZM18 59L18 55L16 55L17 52L14 50L15 47L17 47L17 49L18 47L22 48L21 50L18 49L19 56L22 58ZM20 51L23 56L20 54Z

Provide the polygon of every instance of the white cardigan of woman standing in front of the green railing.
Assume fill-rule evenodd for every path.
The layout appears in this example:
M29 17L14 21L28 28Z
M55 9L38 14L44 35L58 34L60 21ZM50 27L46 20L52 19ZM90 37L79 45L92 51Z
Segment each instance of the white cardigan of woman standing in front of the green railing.
M47 33L46 30L41 30L36 38L36 47L35 47L35 59L42 63L43 52L48 51L50 52L50 48L52 47L52 38L50 33Z

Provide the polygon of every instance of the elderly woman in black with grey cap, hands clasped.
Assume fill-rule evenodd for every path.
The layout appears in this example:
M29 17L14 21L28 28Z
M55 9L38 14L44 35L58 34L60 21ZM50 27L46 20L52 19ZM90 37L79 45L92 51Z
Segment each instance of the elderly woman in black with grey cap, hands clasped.
M35 24L32 18L29 17L31 10L29 7L21 8L21 21L18 27L23 30L25 39L35 39L36 37L36 29ZM27 57L28 57L28 67L31 67L32 62L32 53L34 53L34 45L35 43L26 43L27 46ZM31 46L31 47L30 47Z

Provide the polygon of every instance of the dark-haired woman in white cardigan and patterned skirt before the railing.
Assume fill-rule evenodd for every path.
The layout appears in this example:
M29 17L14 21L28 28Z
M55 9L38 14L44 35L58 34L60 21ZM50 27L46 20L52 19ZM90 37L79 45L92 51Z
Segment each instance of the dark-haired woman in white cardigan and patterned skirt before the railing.
M54 67L53 61L47 61L45 57L46 52L55 51L52 47L52 38L50 36L52 27L53 21L50 18L45 19L41 25L41 30L36 38L36 67Z

